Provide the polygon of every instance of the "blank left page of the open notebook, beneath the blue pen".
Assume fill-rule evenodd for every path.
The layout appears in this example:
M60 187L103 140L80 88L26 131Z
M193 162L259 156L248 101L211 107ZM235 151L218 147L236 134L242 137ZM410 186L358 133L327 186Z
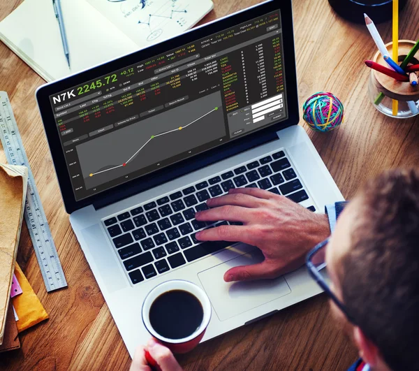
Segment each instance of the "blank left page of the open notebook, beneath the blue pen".
M47 81L64 78L138 50L85 0L61 0L70 50L64 55L52 0L25 0L0 22L0 40Z

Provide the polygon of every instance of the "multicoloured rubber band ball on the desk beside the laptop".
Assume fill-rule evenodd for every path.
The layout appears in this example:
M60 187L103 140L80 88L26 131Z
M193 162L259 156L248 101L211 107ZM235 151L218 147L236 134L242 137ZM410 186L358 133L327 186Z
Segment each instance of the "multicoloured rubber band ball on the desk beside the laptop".
M344 122L344 105L332 93L313 94L302 110L304 121L314 131L331 131Z

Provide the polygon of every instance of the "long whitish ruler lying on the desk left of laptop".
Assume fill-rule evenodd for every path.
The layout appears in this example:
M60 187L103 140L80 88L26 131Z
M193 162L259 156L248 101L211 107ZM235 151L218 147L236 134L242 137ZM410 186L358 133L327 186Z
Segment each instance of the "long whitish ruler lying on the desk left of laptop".
M45 287L48 292L66 287L66 277L64 277L57 249L52 240L50 226L45 217L34 175L32 175L6 92L0 92L0 139L8 163L26 166L29 170L24 219L31 235Z

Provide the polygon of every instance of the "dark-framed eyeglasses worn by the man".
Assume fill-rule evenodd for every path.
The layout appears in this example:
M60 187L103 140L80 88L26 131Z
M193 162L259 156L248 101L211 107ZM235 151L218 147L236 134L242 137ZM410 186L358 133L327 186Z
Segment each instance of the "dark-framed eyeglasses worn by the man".
M307 268L311 277L313 277L313 279L317 282L318 286L320 286L321 289L325 291L329 298L333 300L333 303L335 303L337 307L339 307L339 309L345 314L348 321L355 323L355 321L353 321L353 317L351 317L351 315L348 314L348 310L346 309L344 303L341 303L341 301L332 292L332 290L330 290L328 283L325 281L325 278L323 277L323 275L326 272L325 256L326 247L328 246L328 243L329 238L316 245L316 247L314 247L314 249L312 249L311 252L307 254Z

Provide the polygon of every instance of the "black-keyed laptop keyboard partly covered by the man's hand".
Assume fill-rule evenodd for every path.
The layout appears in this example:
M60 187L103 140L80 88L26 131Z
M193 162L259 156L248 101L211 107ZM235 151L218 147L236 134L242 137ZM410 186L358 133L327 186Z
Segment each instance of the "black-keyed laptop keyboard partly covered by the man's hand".
M205 228L241 223L207 223L196 220L195 213L208 209L208 198L239 187L266 189L296 203L309 199L291 161L284 151L279 151L107 217L103 224L132 284L234 245L225 241L200 242L195 234ZM316 211L314 206L308 209Z

